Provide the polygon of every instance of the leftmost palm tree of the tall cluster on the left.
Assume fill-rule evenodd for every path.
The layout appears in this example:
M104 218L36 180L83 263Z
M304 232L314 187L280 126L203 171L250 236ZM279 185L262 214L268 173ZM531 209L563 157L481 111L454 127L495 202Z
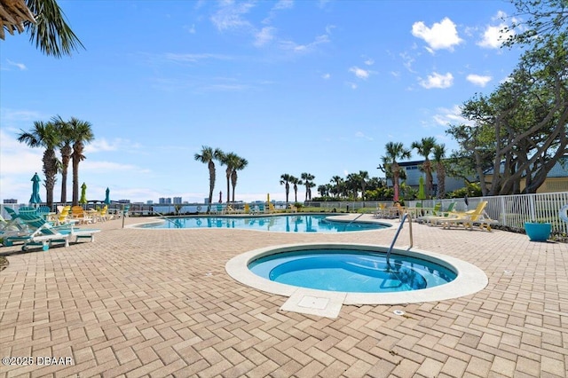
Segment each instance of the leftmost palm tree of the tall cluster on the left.
M59 133L52 122L34 122L34 129L21 130L18 136L20 143L26 143L30 147L43 147L43 174L45 175L45 196L47 206L53 205L53 187L57 181L59 161L55 154L55 148L59 145Z

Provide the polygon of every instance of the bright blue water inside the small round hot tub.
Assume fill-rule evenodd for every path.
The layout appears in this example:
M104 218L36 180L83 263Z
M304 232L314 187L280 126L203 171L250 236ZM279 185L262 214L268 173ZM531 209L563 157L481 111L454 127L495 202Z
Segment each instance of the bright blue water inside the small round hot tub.
M420 290L446 284L456 273L412 256L359 249L312 249L260 257L248 269L268 280L297 287L350 293Z

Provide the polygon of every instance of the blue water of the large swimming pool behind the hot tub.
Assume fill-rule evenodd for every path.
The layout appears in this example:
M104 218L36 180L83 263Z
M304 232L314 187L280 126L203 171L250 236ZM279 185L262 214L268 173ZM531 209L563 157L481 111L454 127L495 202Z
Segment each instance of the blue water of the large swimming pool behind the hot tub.
M170 217L164 222L142 224L143 228L241 228L277 232L348 232L378 230L390 224L339 222L325 215L270 217Z

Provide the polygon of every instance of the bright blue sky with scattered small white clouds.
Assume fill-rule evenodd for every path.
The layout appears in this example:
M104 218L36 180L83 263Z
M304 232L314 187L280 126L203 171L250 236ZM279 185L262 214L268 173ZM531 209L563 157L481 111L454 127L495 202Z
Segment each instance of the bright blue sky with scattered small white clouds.
M0 42L0 199L28 201L43 151L17 134L57 114L92 123L79 177L89 200L109 187L112 200L202 201L201 146L248 160L237 201L283 200L283 173L317 185L382 177L389 141L456 148L445 130L462 122L459 106L493 91L519 57L500 48L514 12L504 1L59 4L86 50L54 59L25 34ZM217 164L219 191L225 201Z

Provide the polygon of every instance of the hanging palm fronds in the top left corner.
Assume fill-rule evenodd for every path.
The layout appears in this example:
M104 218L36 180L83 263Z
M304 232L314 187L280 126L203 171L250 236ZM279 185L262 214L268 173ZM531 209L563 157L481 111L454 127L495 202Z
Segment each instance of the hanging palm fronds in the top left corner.
M83 43L73 33L65 21L65 16L55 0L13 0L3 1L0 6L0 19L6 20L4 28L8 33L22 33L27 30L30 41L36 41L36 48L45 55L61 58L71 55ZM4 28L0 38L4 39Z

